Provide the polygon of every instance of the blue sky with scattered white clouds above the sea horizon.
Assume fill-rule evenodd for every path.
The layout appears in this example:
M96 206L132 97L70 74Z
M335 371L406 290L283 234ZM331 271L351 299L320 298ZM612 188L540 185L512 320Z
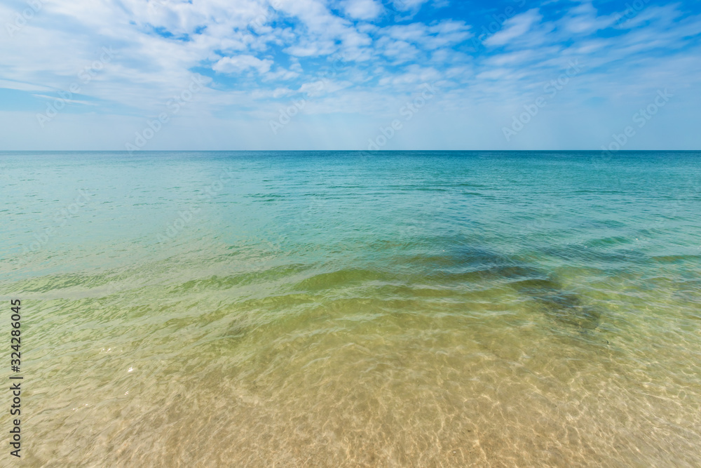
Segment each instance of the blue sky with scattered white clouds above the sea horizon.
M700 1L0 0L0 151L701 149Z

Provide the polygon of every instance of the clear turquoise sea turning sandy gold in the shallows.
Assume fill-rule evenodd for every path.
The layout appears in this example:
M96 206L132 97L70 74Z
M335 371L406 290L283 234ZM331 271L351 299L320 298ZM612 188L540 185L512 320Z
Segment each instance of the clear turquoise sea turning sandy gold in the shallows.
M699 466L699 152L5 152L0 187L27 466Z

